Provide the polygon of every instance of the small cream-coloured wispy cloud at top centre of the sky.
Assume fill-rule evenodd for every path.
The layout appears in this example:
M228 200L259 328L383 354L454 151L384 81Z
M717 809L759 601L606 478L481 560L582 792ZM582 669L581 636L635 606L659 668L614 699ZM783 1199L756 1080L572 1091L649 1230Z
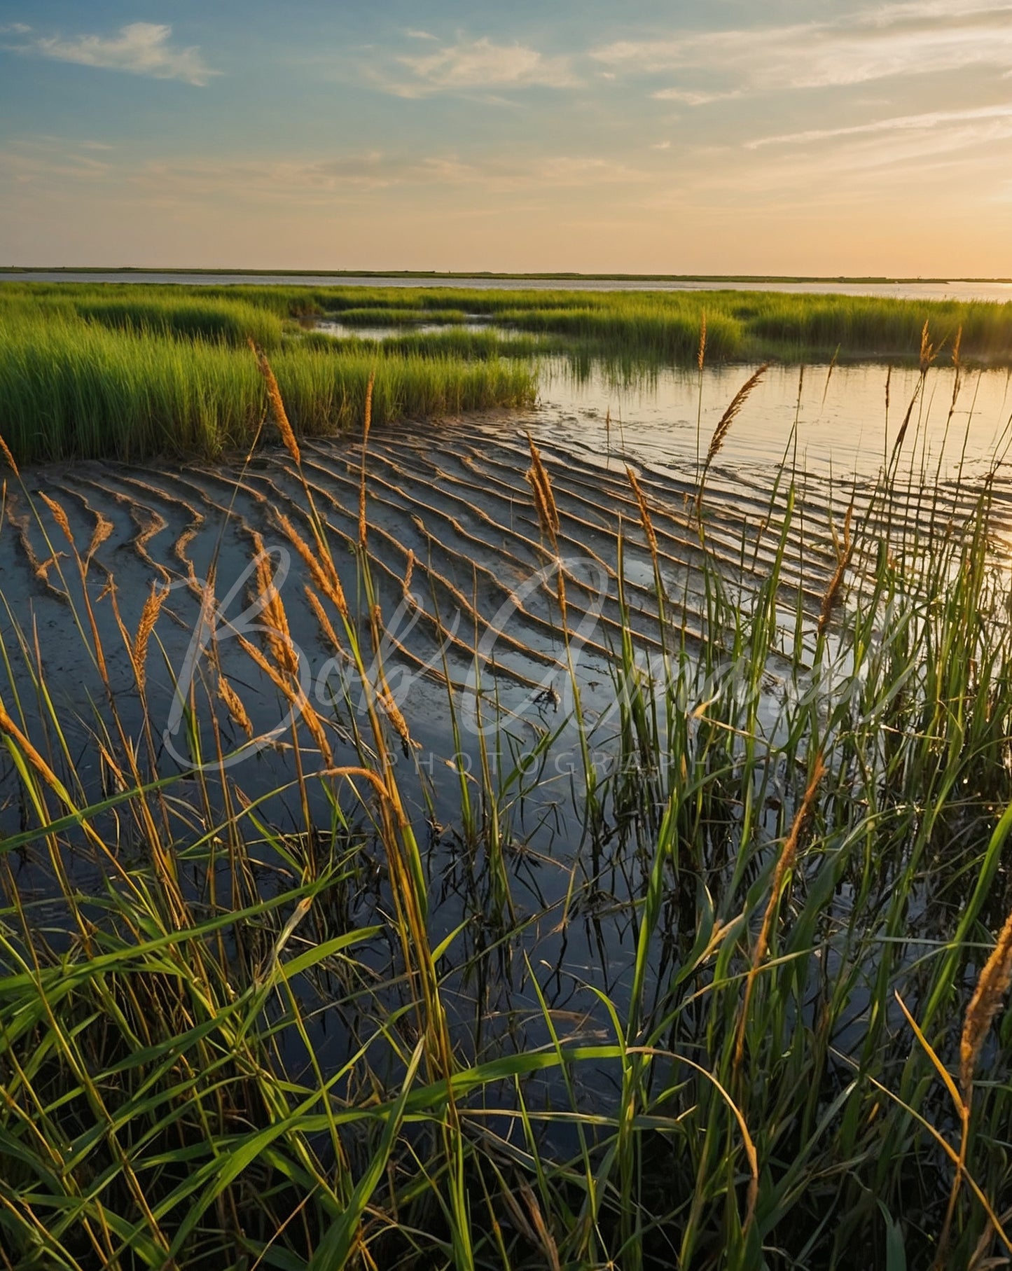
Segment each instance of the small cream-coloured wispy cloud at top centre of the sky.
M570 88L577 83L570 58L545 57L525 44L496 44L487 37L459 39L431 53L398 57L409 79L389 84L400 97L534 84Z

